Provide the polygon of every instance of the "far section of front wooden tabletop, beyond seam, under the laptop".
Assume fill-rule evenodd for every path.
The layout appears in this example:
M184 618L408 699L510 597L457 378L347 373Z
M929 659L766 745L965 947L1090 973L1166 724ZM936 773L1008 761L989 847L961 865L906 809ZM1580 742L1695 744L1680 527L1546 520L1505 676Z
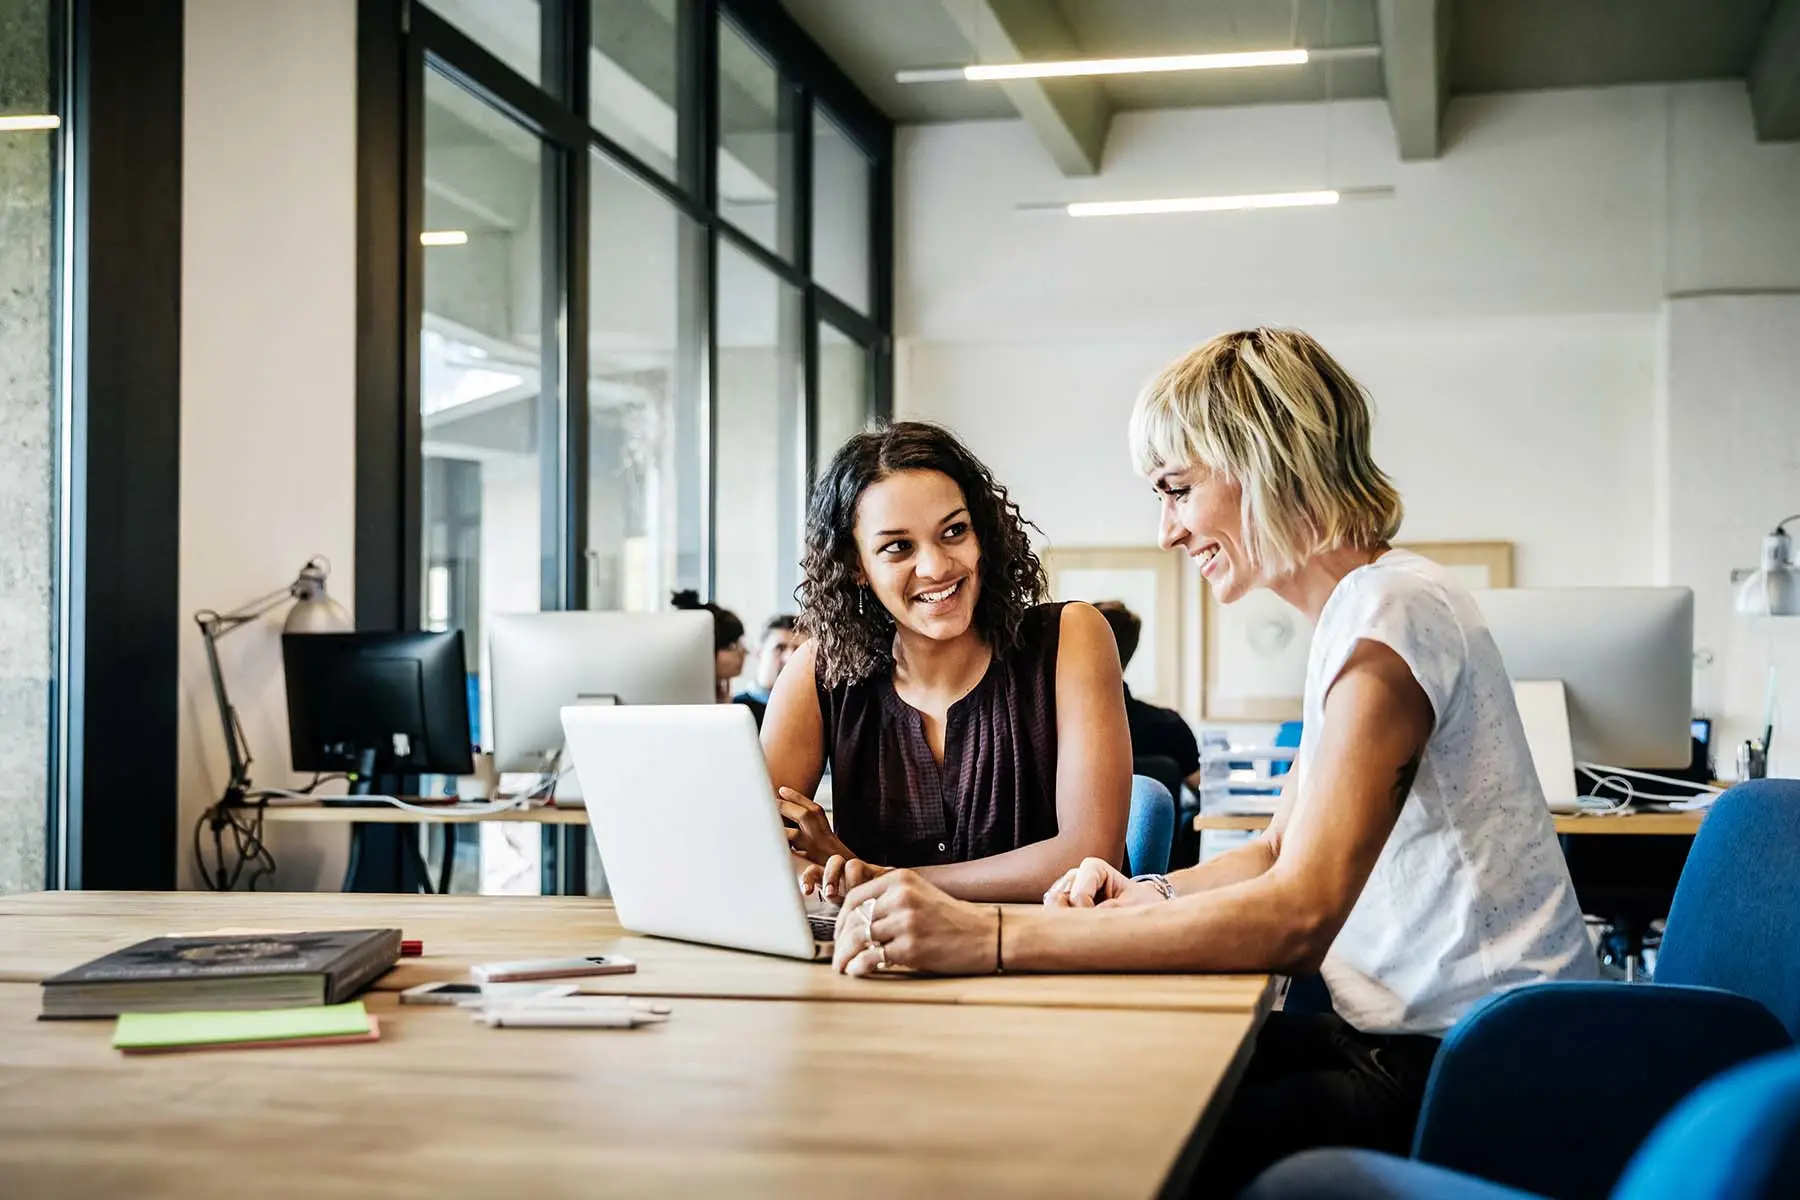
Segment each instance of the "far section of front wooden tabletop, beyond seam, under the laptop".
M475 963L625 955L632 975L592 990L653 997L859 1000L1028 1007L1249 1011L1265 975L981 975L848 979L823 963L626 934L605 900L585 896L346 896L337 892L36 892L0 896L0 981L38 982L119 946L211 928L367 928L398 925L425 943L376 982L400 991L468 979Z

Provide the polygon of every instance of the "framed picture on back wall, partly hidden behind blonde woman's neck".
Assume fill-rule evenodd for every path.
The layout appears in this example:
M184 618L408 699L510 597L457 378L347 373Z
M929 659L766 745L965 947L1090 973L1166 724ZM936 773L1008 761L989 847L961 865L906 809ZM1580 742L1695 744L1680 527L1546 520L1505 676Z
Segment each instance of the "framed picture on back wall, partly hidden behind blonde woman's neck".
M1395 549L1445 567L1465 588L1512 587L1510 542L1406 542ZM1300 720L1312 626L1287 601L1256 590L1220 604L1206 588L1201 644L1202 720Z

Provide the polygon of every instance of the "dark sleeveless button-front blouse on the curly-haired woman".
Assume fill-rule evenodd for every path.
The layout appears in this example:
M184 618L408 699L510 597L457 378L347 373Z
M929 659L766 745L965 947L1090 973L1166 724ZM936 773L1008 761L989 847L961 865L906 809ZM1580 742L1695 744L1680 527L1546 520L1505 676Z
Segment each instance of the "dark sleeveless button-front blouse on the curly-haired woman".
M1021 644L994 655L950 705L943 763L893 667L819 687L832 824L864 862L923 867L988 858L1057 835L1057 640L1062 604L1026 612Z

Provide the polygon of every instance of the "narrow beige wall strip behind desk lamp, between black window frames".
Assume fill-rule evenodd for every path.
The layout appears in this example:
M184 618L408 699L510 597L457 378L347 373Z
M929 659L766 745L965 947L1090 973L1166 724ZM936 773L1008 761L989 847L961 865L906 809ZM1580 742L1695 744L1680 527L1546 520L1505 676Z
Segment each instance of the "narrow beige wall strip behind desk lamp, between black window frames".
M230 610L331 560L355 594L356 4L187 0L180 606ZM284 786L281 615L221 642L254 779ZM225 786L200 635L182 621L180 871ZM275 887L337 887L344 826L270 826ZM266 887L268 883L265 883Z

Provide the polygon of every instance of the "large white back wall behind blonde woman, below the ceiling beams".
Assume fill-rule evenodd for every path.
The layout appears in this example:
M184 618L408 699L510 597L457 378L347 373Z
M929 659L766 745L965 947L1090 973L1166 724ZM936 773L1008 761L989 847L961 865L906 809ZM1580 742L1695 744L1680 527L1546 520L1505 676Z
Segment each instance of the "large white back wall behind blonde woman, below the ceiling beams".
M1379 101L1123 113L1094 180L1062 178L1019 122L902 130L896 408L961 430L1051 542L1145 545L1156 511L1123 435L1136 390L1215 333L1294 324L1373 394L1402 538L1510 540L1521 585L1665 578L1687 504L1665 297L1800 286L1800 146L1757 144L1728 83L1463 97L1447 130L1444 158L1402 164ZM1015 210L1327 184L1395 196ZM1800 497L1793 462L1769 470Z

